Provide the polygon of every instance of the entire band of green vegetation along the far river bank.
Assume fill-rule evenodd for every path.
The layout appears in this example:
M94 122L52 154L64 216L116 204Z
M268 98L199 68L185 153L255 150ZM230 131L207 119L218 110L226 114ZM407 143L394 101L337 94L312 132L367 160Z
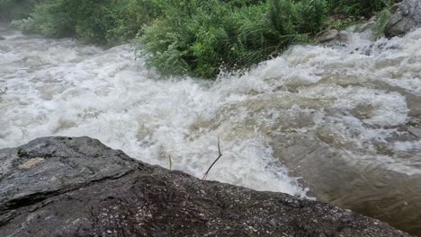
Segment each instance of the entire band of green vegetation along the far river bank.
M345 26L349 19L368 18L384 2L0 0L0 17L24 18L13 25L52 38L104 46L136 38L138 56L162 75L215 78L221 68L252 66L292 43L308 42L332 22Z

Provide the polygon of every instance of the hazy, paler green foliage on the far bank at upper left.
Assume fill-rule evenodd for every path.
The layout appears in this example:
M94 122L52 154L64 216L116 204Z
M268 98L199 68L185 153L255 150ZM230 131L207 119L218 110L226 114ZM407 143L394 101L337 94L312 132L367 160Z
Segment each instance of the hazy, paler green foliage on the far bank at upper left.
M14 22L22 31L46 37L76 37L86 43L114 45L133 39L143 24L160 14L161 0L44 0L30 19Z

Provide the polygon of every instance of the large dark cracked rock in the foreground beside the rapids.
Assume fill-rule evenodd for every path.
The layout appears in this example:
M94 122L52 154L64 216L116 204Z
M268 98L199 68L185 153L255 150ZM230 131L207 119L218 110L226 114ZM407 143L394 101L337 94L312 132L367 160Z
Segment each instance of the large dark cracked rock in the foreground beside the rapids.
M0 162L1 236L409 236L326 203L166 171L88 137L39 138L0 150Z

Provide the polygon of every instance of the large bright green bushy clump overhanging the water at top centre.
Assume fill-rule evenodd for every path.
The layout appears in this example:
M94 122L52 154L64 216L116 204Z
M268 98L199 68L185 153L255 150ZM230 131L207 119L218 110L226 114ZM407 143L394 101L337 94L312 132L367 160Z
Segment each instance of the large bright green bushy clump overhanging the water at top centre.
M325 9L323 0L168 2L164 16L145 28L138 52L163 75L214 78L221 67L252 66L307 40L321 30Z

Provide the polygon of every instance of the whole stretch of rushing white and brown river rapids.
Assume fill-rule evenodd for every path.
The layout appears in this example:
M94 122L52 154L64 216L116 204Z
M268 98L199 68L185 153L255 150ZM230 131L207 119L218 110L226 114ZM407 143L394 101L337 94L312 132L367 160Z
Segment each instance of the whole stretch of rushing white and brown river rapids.
M0 148L91 136L141 161L318 198L421 236L421 30L294 46L216 82L0 25Z

